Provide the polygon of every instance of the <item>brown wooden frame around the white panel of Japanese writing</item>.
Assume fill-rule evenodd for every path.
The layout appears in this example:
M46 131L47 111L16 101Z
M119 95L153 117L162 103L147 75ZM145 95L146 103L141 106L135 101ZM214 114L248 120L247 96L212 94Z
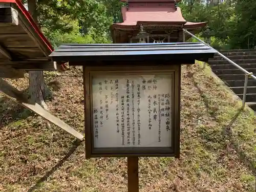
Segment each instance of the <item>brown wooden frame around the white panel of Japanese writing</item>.
M171 147L94 147L93 109L92 109L92 76L99 74L172 74L172 146ZM177 157L180 154L180 84L181 65L151 66L83 66L84 82L84 115L86 134L86 158L92 157Z

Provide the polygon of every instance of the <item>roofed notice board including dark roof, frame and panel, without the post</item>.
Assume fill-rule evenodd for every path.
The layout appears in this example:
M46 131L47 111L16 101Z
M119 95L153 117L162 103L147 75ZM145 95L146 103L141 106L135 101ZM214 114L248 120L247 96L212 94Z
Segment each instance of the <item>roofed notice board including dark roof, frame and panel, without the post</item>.
M179 157L181 65L201 43L64 44L50 56L83 66L86 158Z

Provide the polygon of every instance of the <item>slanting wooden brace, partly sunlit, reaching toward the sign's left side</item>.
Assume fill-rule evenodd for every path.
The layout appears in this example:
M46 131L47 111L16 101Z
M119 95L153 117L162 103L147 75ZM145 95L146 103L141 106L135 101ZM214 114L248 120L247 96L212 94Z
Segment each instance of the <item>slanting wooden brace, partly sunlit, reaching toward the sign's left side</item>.
M31 111L35 112L36 114L40 115L41 117L45 118L46 120L52 122L53 124L60 127L62 130L70 133L71 135L75 136L79 140L83 140L83 136L74 130L71 126L66 124L64 121L60 120L59 118L55 117L44 108L42 108L37 103L31 103L27 99L26 95L22 92L18 91L16 88L11 86L8 82L3 79L0 79L0 92L2 92L6 97L22 104L26 108L30 109Z

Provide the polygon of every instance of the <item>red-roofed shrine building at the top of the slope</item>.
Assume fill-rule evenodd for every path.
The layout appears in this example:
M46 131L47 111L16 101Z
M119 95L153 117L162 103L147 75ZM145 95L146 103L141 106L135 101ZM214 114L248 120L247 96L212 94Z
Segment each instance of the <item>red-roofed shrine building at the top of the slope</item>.
M177 7L180 0L121 1L123 22L111 26L113 43L183 42L183 29L196 34L207 25L187 22Z

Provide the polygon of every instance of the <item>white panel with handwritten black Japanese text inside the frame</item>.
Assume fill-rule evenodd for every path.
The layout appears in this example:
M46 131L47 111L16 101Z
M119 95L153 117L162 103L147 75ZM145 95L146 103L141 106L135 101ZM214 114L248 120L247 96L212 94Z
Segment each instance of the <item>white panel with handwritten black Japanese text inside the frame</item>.
M92 77L94 147L170 147L172 76Z

